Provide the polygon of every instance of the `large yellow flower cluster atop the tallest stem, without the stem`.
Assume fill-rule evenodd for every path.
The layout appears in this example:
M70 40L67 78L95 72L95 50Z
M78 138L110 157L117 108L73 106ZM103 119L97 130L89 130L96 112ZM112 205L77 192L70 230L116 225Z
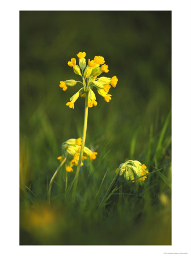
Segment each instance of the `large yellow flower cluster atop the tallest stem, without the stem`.
M104 57L95 56L93 60L88 59L88 64L86 64L86 52L78 52L77 57L79 59L79 65L77 65L77 60L72 58L68 61L68 65L73 67L74 73L82 77L82 82L75 80L60 81L60 87L62 90L67 90L68 86L74 86L77 82L83 84L83 87L78 90L71 98L70 101L66 103L66 106L74 109L74 103L77 101L78 97L86 97L88 93L88 108L92 106L97 106L96 96L93 92L93 88L97 89L97 92L104 98L105 102L109 102L112 98L111 94L108 94L111 86L116 87L117 76L109 77L99 77L101 73L108 73L108 65L105 64ZM101 67L100 67L101 65Z

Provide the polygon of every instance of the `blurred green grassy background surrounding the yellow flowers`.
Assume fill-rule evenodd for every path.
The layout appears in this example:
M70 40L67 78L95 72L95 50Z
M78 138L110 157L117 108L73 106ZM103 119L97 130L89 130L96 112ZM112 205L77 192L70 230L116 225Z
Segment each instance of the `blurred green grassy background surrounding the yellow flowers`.
M66 106L79 85L59 87L78 79L67 61L79 51L104 56L118 84L89 109L86 146L98 155L81 168L76 204L62 169L49 207L61 144L82 136L84 99ZM150 176L141 187L118 179L97 210L129 159ZM20 11L20 245L171 245L170 11Z

